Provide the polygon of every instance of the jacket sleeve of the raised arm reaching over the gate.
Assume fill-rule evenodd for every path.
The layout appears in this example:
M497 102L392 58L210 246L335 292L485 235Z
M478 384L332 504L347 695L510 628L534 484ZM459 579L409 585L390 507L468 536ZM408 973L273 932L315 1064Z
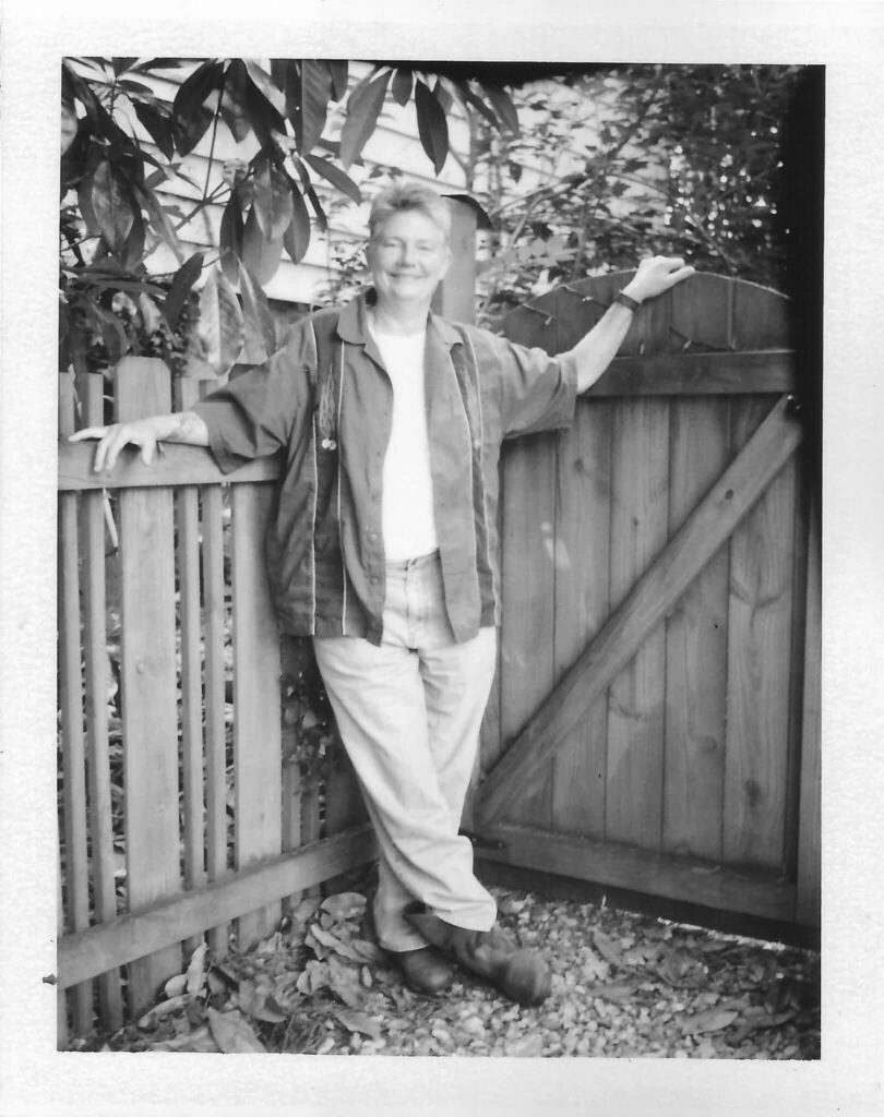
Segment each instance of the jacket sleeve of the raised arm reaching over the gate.
M570 426L577 399L570 354L550 356L484 330L474 344L483 380L491 378L496 390L504 438Z

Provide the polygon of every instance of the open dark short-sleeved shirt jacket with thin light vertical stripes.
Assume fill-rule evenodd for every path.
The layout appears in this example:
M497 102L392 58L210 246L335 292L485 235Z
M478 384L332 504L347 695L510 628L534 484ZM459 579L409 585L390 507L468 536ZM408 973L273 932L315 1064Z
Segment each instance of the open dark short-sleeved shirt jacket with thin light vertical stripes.
M368 328L372 295L302 318L267 364L193 408L224 471L283 455L267 567L282 629L295 636L382 639L392 385ZM577 367L430 314L424 374L445 601L462 642L500 621L501 442L568 426Z

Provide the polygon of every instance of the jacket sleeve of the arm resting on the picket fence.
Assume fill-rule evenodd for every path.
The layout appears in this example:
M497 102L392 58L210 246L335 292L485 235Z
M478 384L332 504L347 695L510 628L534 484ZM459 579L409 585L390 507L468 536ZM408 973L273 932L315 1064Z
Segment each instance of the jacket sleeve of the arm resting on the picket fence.
M297 323L266 364L249 369L191 408L206 423L209 449L222 472L288 446L310 407L316 367L313 331Z

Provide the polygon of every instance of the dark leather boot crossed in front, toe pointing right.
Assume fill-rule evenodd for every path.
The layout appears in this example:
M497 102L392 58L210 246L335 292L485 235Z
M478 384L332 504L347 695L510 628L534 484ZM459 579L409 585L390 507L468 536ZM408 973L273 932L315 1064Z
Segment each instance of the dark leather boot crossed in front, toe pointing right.
M500 927L491 930L455 927L422 906L406 911L406 916L427 942L519 1004L541 1004L550 995L552 978L546 964L531 951L517 947Z

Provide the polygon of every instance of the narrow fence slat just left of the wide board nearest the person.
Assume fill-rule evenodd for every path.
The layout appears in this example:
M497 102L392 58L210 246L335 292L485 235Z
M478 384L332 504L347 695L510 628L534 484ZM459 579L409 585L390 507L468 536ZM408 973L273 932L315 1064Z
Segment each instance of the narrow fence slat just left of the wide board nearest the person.
M220 485L202 490L202 593L206 641L206 868L220 880L227 852L227 725L225 722L225 573L224 499ZM216 958L227 954L228 924L208 933Z

